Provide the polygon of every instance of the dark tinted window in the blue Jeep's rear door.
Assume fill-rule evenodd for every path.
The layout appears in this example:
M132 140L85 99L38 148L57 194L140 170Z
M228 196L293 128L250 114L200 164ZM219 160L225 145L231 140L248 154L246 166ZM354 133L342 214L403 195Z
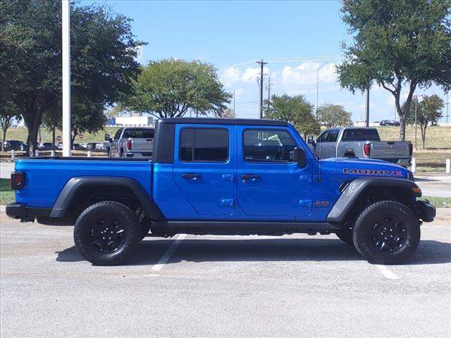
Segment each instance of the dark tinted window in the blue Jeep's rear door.
M180 161L225 162L228 159L228 131L220 128L180 130Z

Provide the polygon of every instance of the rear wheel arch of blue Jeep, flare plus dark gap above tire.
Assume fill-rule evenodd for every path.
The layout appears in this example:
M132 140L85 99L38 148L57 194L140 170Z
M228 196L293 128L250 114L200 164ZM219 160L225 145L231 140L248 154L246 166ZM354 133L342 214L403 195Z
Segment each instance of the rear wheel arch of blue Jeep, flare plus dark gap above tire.
M100 189L99 189L100 188ZM137 203L152 220L166 220L152 196L149 196L142 185L128 177L73 177L61 190L51 209L51 218L64 218L89 201L123 200L123 204Z

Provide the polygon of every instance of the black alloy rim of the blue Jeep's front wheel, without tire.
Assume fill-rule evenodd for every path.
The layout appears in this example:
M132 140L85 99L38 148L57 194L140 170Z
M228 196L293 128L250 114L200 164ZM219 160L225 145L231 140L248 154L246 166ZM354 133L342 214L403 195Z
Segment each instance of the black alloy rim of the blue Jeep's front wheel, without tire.
M407 240L407 230L402 220L395 216L379 217L370 230L376 249L394 253L400 251Z

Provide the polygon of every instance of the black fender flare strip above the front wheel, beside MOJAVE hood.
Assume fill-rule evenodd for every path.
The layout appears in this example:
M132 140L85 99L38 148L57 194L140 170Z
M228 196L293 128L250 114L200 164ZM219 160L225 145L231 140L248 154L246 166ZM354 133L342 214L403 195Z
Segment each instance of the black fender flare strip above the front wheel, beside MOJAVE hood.
M409 180L388 177L358 177L345 187L332 209L330 209L327 215L327 221L331 223L341 223L345 220L345 217L352 206L359 201L359 198L365 190L371 187L395 187L412 193L412 196L421 197L421 190L419 187L415 182Z

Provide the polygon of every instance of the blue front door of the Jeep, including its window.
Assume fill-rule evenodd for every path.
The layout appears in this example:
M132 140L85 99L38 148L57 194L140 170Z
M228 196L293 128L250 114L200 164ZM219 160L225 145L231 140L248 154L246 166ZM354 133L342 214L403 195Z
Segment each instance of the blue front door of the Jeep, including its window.
M302 216L311 212L311 163L300 168L292 130L237 127L237 199L247 215ZM299 142L300 143L300 142Z

